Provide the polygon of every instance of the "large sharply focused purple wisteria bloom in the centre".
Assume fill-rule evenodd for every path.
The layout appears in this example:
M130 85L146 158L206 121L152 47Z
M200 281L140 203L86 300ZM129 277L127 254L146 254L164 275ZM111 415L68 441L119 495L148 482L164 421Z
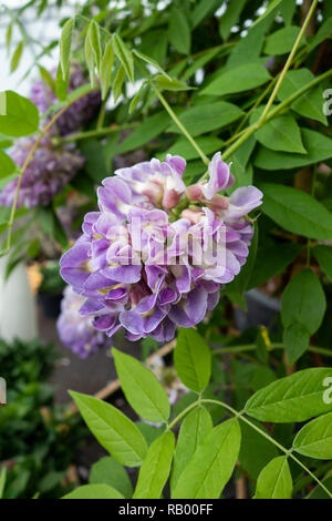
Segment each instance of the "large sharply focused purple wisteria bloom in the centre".
M230 165L217 153L209 180L186 187L186 161L167 155L121 168L97 191L98 212L61 258L61 275L85 302L82 316L107 336L170 340L216 307L239 274L253 234L247 214L261 204L255 186L229 197Z

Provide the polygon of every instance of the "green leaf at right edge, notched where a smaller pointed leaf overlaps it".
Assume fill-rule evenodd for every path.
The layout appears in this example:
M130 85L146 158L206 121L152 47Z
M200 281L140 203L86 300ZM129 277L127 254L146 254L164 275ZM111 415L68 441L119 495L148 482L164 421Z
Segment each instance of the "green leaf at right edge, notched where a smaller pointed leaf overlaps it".
M332 140L319 132L301 129L302 143L307 154L276 152L261 147L255 157L255 165L262 170L300 168L332 157Z

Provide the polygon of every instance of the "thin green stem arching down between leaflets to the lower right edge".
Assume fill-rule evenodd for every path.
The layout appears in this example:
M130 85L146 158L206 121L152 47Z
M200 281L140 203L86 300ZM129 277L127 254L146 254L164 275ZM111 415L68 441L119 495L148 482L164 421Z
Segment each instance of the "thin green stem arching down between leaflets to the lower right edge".
M268 435L264 430L260 429L259 427L257 427L257 425L255 425L252 421L250 421L248 418L246 418L243 415L245 415L245 410L242 411L237 411L236 409L234 409L232 407L230 407L229 405L225 403L224 401L219 401L219 400L212 400L212 399L207 399L207 398L200 398L197 400L197 401L194 401L193 403L190 403L186 409L184 409L168 426L167 426L167 430L170 430L173 427L175 427L176 423L178 423L178 421L187 415L187 412L189 412L190 410L195 409L196 407L199 407L201 403L212 403L212 405L216 405L216 406L219 406L219 407L224 407L225 409L227 409L229 412L231 412L235 418L239 418L240 420L242 420L245 423L247 423L249 427L251 427L253 430L256 430L259 435L261 435L263 438L266 438L268 441L270 441L271 443L273 443L278 449L280 449L287 457L291 458L293 461L295 461L305 472L308 472L308 474L324 490L324 492L330 497L332 498L332 493L330 492L330 490L324 486L324 483L321 482L321 480L304 464L302 463L301 460L299 460L299 458L297 458L293 453L292 453L292 449L287 449L286 447L283 447L281 443L279 443L277 440L274 440L270 435Z

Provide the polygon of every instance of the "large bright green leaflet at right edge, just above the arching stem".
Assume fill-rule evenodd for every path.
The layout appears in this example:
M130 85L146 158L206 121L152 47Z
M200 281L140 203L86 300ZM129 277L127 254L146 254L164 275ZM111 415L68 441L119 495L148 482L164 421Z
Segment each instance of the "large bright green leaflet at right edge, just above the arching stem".
M280 378L257 391L246 403L245 411L261 421L288 423L305 421L332 410L323 399L323 381L332 369L310 368Z

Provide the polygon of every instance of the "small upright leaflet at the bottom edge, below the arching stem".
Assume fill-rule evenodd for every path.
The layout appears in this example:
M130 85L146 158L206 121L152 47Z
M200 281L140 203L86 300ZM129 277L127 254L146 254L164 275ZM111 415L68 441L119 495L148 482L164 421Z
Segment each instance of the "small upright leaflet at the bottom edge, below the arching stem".
M287 456L279 456L272 459L259 474L253 499L291 499L292 489Z

